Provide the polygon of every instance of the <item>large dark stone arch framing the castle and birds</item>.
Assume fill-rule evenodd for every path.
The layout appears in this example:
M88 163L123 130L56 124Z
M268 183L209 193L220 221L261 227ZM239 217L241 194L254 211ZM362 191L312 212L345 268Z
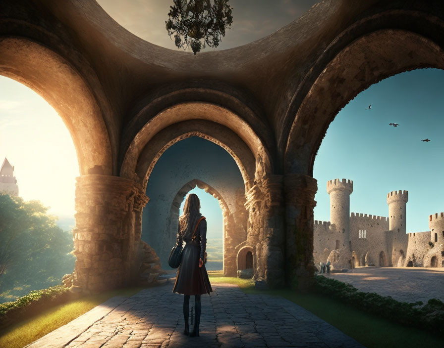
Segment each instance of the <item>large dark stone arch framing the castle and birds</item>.
M282 143L285 142L284 173L305 181L295 189L294 195L296 191L302 191L302 195L309 198L305 202L287 203L287 233L296 230L296 244L310 249L302 252L306 255L305 259L297 258L302 264L300 267L308 272L311 264L309 255L313 251L313 225L308 220L313 219L312 211L316 205L311 198L313 191L316 192L313 165L330 123L359 92L384 78L416 68L444 68L443 45L436 35L436 26L442 30L443 22L431 23L427 14L402 12L363 18L338 35L304 76L287 109L291 128L287 137L282 135L280 138ZM398 21L402 16L403 23L408 21L407 18L424 23L421 29L416 26L409 28L411 31L405 30L408 25L401 25L398 29L380 27L382 22L389 23L389 18L396 17ZM389 48L386 49L387 45ZM295 214L302 210L301 204L305 207L303 213Z

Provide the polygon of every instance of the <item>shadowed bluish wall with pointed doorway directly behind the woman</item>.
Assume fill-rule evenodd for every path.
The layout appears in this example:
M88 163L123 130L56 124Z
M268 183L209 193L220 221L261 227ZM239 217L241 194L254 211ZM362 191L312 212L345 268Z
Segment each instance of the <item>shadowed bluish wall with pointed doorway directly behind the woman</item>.
M194 189L200 192L198 196L211 195L215 203L219 202L215 210L208 210L201 203L201 212L207 209L209 215L207 238L220 239L222 244L223 268L221 261L219 269L233 276L236 272L234 247L247 239L245 186L232 157L217 144L201 137L187 137L173 144L154 166L146 190L150 202L142 214L142 240L155 249L163 268L168 269L167 259L176 240L179 208L186 194ZM219 237L211 227L212 216L216 218L216 215L222 219L220 226L215 226L221 232Z

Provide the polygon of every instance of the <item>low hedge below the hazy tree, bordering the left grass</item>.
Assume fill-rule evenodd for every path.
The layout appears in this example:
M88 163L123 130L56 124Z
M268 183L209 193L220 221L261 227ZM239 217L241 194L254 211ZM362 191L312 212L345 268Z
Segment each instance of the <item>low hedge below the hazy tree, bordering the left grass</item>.
M68 302L78 296L63 285L33 290L14 302L0 304L0 329L22 320L24 316L32 316L44 308Z

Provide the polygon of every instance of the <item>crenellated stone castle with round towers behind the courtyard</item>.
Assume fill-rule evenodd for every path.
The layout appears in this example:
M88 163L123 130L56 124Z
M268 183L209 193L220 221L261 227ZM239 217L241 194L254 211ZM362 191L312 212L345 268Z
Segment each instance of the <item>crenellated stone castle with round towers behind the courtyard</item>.
M430 231L406 233L408 191L387 194L389 217L351 213L353 181L327 182L330 221L314 221L313 258L334 268L444 267L444 213L429 216Z

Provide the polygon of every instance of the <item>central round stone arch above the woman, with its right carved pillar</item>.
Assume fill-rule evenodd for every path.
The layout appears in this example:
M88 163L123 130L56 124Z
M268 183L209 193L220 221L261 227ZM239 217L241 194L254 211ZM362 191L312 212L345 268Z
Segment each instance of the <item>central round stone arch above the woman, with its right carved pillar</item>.
M235 160L244 180L244 208L248 212L246 240L259 245L255 248L258 262L254 277L271 287L281 286L285 279L284 238L283 221L277 216L282 214L282 176L271 174L273 164L262 139L239 116L219 105L186 102L167 107L153 117L144 112L142 109L137 117L148 121L128 145L120 174L133 178L145 190L155 163L172 144L199 136L224 148ZM231 238L236 244L241 241L239 236ZM227 272L235 269L229 266L230 254L225 246Z

